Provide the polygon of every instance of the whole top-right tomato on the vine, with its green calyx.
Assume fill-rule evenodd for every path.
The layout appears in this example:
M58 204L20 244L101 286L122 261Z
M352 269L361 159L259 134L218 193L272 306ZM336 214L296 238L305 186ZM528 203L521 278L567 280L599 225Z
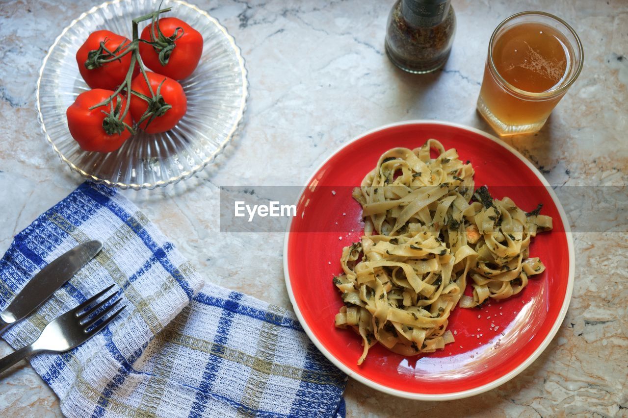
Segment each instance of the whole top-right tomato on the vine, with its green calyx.
M153 39L151 39L151 27L153 27ZM139 43L139 55L146 67L175 80L183 80L192 74L203 53L203 36L192 26L177 18L162 18L154 26L152 23L149 24L142 31L141 38L160 45Z

